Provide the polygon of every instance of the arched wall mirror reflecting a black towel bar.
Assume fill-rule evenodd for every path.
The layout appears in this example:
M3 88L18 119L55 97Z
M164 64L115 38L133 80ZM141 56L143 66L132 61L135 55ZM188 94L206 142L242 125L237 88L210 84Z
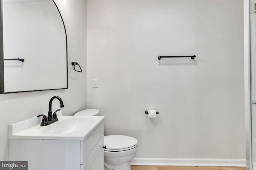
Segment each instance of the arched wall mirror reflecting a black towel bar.
M66 30L53 0L2 0L2 33L4 93L68 88Z

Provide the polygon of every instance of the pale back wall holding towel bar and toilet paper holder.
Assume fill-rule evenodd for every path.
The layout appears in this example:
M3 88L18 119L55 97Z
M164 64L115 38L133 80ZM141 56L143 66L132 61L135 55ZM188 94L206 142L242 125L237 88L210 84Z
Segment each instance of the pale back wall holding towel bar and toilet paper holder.
M136 157L245 158L242 0L87 0L87 35L105 135L136 137Z

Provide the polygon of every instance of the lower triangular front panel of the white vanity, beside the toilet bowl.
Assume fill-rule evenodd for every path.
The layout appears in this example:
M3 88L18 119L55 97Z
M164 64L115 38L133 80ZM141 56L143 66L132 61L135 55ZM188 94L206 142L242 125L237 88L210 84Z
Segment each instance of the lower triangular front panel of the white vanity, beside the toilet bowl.
M92 150L89 158L81 165L80 170L103 170L104 169L104 135L102 135L100 141L96 147Z

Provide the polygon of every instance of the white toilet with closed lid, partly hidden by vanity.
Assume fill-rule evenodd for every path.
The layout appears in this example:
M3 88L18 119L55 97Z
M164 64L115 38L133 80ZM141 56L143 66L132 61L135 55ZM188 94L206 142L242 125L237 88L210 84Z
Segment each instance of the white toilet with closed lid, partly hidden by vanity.
M85 109L74 116L95 116L98 109ZM131 170L130 161L135 157L138 149L137 139L123 135L109 135L104 137L104 170Z

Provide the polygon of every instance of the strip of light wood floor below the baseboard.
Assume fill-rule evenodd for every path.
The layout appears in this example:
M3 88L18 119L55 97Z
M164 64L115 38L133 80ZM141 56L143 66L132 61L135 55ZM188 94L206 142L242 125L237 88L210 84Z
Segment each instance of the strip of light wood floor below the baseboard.
M132 170L245 170L245 167L216 166L131 166Z

